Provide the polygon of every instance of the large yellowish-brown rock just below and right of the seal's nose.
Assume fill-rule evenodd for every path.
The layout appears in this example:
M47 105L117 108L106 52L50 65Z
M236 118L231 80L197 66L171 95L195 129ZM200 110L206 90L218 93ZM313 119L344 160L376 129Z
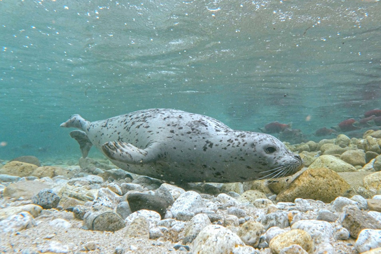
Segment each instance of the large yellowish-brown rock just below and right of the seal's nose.
M277 201L294 202L296 198L329 203L350 188L336 172L327 168L307 169L276 197Z

